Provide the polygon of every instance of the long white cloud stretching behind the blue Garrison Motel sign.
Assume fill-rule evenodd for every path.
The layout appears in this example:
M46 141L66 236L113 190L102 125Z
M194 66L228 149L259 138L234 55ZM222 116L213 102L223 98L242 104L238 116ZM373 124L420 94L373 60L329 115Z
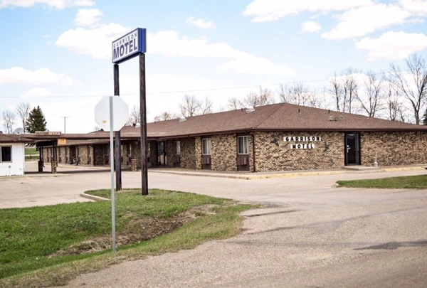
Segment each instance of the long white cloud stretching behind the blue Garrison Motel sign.
M93 29L70 29L59 36L57 46L68 48L78 54L91 55L93 58L111 57L111 43L127 29L119 24L109 24ZM191 39L179 36L176 31L159 31L147 33L148 53L186 56L192 58L224 58L232 60L221 70L235 70L252 74L263 73L292 75L293 71L286 65L275 65L270 60L259 58L241 50L232 48L228 43L208 43L206 38Z

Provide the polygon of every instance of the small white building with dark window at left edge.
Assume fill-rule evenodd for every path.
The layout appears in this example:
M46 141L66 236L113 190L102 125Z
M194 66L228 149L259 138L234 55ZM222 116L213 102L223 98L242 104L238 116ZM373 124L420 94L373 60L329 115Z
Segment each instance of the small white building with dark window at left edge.
M16 134L0 131L0 177L23 175L25 171L25 143L31 143Z

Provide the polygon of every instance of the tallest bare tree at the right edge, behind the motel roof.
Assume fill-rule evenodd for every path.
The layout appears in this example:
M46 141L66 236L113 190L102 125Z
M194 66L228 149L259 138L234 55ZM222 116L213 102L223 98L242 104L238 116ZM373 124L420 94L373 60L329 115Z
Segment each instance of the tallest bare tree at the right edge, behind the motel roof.
M421 109L427 97L427 61L421 55L413 54L406 59L406 73L391 63L389 81L399 95L411 102L416 124L421 122Z

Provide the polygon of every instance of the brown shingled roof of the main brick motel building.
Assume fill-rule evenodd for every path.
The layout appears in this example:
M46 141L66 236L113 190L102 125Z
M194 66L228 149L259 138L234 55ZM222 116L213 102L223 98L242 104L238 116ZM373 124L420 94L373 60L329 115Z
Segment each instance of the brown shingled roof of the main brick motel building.
M239 131L427 131L427 127L286 103L256 107L249 113L233 110L188 117L184 122L147 124L147 137L160 138Z

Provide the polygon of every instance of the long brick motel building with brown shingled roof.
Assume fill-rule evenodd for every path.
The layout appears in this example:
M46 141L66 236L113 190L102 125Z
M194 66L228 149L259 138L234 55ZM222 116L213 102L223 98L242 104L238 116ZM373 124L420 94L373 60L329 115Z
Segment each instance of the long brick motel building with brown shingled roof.
M139 132L121 129L122 166L134 171ZM53 166L110 161L108 132L28 137ZM427 163L427 126L285 103L148 123L147 139L151 167L260 172Z

